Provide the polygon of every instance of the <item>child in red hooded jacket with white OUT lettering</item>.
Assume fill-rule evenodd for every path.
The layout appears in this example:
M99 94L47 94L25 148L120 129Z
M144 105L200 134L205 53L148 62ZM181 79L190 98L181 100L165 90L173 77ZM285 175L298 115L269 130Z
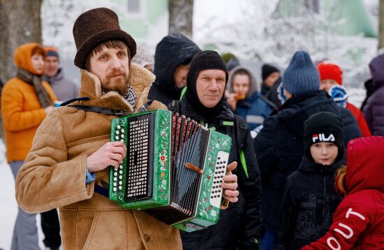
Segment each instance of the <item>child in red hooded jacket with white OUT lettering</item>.
M346 197L325 236L302 249L384 248L383 149L380 136L348 143L347 166L339 169L336 181Z

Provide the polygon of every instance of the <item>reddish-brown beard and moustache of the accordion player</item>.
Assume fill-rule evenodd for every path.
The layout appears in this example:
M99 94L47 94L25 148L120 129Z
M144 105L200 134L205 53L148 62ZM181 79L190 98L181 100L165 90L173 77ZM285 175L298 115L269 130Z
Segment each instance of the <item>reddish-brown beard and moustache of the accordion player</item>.
M119 74L122 74L123 78L112 78L113 75ZM121 96L126 96L128 94L128 75L126 75L126 71L123 69L109 73L107 77L101 81L101 88L104 92L117 91Z

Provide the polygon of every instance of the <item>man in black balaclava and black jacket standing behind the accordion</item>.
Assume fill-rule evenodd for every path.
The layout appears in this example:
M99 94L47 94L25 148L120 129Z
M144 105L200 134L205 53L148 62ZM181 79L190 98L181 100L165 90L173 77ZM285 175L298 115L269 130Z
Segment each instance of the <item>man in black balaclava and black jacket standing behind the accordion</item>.
M191 117L210 129L232 138L228 162L237 161L239 200L221 210L219 222L204 230L183 233L184 250L188 249L257 249L260 236L260 173L253 151L249 128L224 102L228 81L226 64L213 51L193 57L187 76L186 94L173 101L171 111Z

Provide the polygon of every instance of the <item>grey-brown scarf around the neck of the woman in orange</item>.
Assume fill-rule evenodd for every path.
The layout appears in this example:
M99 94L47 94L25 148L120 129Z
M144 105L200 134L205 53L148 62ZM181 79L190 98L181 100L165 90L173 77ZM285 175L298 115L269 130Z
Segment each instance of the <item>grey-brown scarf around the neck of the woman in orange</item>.
M34 75L29 71L24 70L23 68L17 68L16 78L27 82L34 86L35 93L38 97L38 102L40 103L41 108L47 108L52 105L52 100L50 98L50 94L41 84L41 77L39 75Z

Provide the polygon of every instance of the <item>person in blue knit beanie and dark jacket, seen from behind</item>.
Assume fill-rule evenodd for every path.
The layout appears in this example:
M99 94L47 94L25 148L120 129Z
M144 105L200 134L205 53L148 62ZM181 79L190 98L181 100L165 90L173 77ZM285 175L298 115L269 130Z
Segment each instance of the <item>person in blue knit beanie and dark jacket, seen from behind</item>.
M344 144L362 136L353 115L318 90L320 77L309 54L296 52L283 74L283 89L288 101L265 119L254 140L262 176L261 197L265 237L263 244L274 247L279 229L279 210L286 178L297 170L304 153L304 121L311 115L328 111L339 115L344 126Z

